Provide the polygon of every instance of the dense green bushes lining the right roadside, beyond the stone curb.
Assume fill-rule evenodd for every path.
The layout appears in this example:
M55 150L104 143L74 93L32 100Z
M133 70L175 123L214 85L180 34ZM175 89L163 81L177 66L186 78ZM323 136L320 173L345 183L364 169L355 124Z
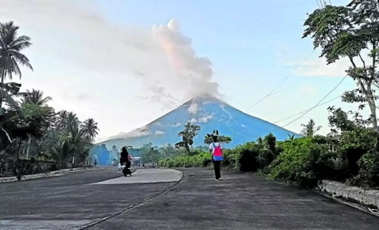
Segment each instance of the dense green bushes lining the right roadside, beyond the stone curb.
M276 141L268 134L224 150L221 166L233 171L260 171L275 180L302 187L316 186L318 180L348 182L363 187L379 187L379 134L355 128L335 136L290 137ZM207 167L211 154L197 151L160 160L164 167Z

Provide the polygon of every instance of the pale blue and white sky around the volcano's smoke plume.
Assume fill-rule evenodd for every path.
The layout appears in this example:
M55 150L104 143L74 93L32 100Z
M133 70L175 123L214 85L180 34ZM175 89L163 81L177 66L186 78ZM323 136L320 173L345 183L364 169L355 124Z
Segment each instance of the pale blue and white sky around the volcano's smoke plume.
M108 25L125 30L117 35L129 38L134 33L130 28L165 25L174 17L183 35L192 39L196 56L208 57L213 63L212 81L219 83L224 100L243 112L270 122L314 106L337 85L348 67L346 60L326 66L325 61L318 58L320 50L311 54L312 40L301 39L306 13L317 8L316 1L96 0L91 5L35 1L34 5L25 8L16 7L16 2L0 0L2 5L5 3L3 11L0 9L0 21L14 20L21 27L20 33L33 39L33 48L26 54L36 70L24 71L23 87L43 90L53 97L53 106L73 110L81 119L95 118L101 129L100 137L131 131L170 110L168 107L162 109L159 104L151 106L149 101L141 99L146 94L146 88L143 88L146 79L141 81L130 72L111 66L114 63L122 65L117 62L120 58L125 58L125 65L139 65L139 62L127 51L106 42L106 32L114 31ZM332 3L341 5L348 1ZM30 10L33 7L34 10ZM12 14L9 9L13 9ZM88 18L81 20L81 14L88 12L104 21L100 26L91 27L91 31L86 24ZM91 23L91 26L95 25ZM92 46L88 39L93 41ZM106 44L108 55L114 59L107 55L99 57L98 49L102 43ZM81 57L83 53L92 59ZM302 62L308 55L310 57ZM157 72L155 77L159 80L161 69L157 68L152 71ZM247 109L290 73L291 76L276 90L277 94ZM326 100L353 87L354 83L347 79ZM166 89L175 95L174 87ZM326 107L330 105L356 108L335 100L317 107L286 128L299 132L300 124L313 118L316 124L323 126L321 133L326 134L329 132ZM291 120L278 124L284 125Z

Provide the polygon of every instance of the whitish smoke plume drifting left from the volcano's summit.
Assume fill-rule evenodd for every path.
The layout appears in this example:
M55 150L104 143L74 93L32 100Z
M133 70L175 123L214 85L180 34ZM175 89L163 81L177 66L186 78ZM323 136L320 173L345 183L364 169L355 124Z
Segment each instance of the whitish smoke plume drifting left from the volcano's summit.
M175 19L150 28L120 26L99 12L89 0L0 0L0 21L27 28L34 52L59 54L107 80L116 72L135 76L145 87L141 98L165 108L202 94L220 96L211 61L196 56Z

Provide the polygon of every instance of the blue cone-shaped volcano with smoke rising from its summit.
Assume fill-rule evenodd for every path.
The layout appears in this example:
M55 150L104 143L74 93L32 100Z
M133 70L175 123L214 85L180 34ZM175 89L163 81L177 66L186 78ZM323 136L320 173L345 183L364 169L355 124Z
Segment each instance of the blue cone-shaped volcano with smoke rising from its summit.
M220 135L232 137L232 142L225 146L229 148L255 141L270 132L277 140L285 140L288 135L300 137L299 134L241 112L213 96L202 96L185 102L146 126L110 137L101 144L105 144L108 149L112 145L116 145L117 148L125 145L140 148L149 142L158 147L163 146L163 143L174 145L181 140L178 133L184 129L187 122L200 126L199 134L193 139L195 147L204 145L205 135L215 129L219 130Z

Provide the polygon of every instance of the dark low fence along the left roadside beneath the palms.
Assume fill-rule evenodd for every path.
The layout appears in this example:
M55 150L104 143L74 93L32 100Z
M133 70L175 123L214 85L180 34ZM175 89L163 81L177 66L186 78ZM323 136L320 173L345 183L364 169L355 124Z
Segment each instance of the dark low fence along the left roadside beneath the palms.
M78 167L84 167L84 165L69 162L36 161L33 159L19 159L17 166L16 159L0 156L0 177L31 175Z

